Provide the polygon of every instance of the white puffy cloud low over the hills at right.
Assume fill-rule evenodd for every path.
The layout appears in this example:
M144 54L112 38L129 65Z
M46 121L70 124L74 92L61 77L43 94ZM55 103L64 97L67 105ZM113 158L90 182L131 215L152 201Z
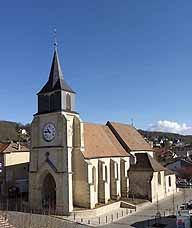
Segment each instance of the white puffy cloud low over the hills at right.
M163 131L178 133L183 135L192 134L192 125L187 125L186 123L178 123L169 120L159 120L155 124L151 124L148 128L149 131Z

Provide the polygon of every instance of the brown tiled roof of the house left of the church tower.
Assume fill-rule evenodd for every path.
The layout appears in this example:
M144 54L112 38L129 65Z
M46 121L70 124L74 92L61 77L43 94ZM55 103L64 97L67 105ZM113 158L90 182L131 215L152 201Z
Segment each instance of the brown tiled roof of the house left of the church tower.
M0 153L15 153L15 152L29 152L29 148L25 145L18 145L17 143L0 143Z

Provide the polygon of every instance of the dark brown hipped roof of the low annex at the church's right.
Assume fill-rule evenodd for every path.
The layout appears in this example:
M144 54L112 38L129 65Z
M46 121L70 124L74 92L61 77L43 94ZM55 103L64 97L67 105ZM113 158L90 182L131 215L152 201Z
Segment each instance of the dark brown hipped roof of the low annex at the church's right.
M130 171L166 171L167 169L152 158L148 153L136 153L136 164L130 167Z

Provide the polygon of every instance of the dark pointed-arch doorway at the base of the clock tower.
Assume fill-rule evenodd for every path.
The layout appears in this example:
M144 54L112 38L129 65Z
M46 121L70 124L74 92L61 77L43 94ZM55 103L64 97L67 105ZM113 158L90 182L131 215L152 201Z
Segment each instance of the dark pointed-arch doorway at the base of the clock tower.
M56 208L56 183L51 174L47 174L43 181L42 207L49 210Z

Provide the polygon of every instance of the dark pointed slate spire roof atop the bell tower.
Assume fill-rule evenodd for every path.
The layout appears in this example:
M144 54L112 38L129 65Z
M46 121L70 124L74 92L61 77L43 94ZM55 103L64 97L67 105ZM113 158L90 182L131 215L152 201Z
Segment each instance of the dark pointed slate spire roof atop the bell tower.
M64 90L70 93L75 93L71 87L64 81L63 73L61 70L61 66L59 63L59 57L57 53L57 49L54 51L53 61L51 65L51 71L49 74L49 80L44 85L44 87L40 90L38 95L49 93L56 90Z

